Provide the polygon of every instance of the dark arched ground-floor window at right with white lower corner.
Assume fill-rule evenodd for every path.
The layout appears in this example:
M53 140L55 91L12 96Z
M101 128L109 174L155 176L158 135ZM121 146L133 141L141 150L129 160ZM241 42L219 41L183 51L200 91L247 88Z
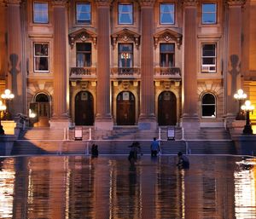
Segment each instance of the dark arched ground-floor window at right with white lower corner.
M212 94L205 94L201 98L201 117L216 118L216 101Z

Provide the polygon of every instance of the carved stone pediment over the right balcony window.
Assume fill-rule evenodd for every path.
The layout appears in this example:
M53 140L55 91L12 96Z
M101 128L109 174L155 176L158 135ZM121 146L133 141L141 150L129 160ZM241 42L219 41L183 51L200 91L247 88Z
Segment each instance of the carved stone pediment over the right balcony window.
M177 43L177 49L180 49L180 45L182 44L183 35L179 32L174 32L170 29L166 29L161 32L157 32L154 34L154 49L157 48L159 41L166 41L166 43L174 40Z

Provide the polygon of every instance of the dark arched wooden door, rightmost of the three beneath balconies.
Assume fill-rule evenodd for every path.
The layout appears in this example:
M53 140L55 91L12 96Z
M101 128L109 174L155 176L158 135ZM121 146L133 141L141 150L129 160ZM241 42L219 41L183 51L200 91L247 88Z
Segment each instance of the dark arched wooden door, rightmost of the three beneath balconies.
M177 99L171 91L164 91L158 97L159 125L176 125Z

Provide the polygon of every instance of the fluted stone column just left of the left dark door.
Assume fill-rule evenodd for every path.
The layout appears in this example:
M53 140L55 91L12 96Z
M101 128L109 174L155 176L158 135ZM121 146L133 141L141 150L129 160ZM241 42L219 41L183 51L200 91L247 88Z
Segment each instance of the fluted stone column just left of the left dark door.
M52 1L54 28L54 95L51 128L68 126L67 117L67 14L66 0Z

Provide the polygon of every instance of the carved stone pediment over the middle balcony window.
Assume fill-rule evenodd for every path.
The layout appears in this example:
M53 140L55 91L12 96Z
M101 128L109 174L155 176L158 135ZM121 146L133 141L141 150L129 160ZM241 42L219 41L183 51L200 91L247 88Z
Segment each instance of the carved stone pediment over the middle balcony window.
M117 42L122 41L122 42L134 42L136 48L139 48L140 45L140 35L137 34L136 32L131 32L128 29L123 29L120 32L113 33L111 35L111 43L113 46L113 49L115 48L115 45Z

